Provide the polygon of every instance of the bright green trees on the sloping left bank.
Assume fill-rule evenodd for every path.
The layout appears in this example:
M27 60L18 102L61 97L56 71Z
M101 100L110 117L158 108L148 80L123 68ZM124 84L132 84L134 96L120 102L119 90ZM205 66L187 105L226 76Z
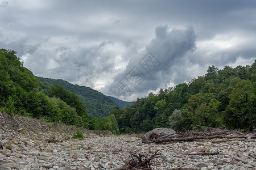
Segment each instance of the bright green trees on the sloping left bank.
M14 50L0 49L1 112L119 133L113 114L89 120L77 94L38 79L15 54Z

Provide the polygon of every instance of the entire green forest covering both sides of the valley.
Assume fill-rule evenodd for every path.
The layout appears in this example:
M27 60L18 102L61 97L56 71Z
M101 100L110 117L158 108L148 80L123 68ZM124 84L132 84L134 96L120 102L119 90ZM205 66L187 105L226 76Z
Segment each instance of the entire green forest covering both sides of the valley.
M209 66L204 76L160 89L158 94L151 92L123 109L100 92L86 94L86 87L46 80L23 67L14 50L0 49L0 111L10 115L110 130L113 134L142 133L159 127L196 130L191 125L244 131L256 128L256 60L251 66L225 66L222 70ZM99 95L102 102L90 98L93 95ZM102 103L105 111L97 110L96 105L100 108Z

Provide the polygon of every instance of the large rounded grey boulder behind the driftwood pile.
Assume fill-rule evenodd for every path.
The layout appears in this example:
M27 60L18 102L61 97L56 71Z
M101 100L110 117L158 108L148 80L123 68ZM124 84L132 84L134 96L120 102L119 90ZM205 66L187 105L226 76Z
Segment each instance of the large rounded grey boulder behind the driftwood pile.
M146 143L148 140L150 140L150 137L152 136L152 134L154 134L155 137L166 137L166 136L174 134L174 133L176 133L176 131L173 129L155 128L151 131L148 131L146 134L144 134L141 141L143 143Z

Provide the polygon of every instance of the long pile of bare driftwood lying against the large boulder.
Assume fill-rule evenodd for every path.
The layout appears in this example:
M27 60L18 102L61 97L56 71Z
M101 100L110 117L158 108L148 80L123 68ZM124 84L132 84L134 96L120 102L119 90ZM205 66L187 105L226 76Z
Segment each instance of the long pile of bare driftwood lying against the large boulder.
M197 126L197 125L195 125ZM184 133L175 133L167 136L152 133L145 143L155 143L155 144L166 144L174 142L192 142L200 139L229 139L223 140L223 142L233 141L236 139L238 141L243 141L247 138L256 138L256 133L241 133L237 130L226 130L226 129L216 129L209 128L205 126L200 126L202 131L185 131ZM222 141L217 141L219 143Z

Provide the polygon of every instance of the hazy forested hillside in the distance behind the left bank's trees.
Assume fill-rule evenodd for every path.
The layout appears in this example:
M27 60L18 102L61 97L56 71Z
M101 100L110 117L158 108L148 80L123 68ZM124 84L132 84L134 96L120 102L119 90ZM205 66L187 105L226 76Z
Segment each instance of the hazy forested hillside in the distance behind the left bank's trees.
M114 107L118 107L114 101L112 101L108 96L105 96L101 92L93 90L90 87L79 86L71 84L65 80L61 79L50 79L38 77L40 80L50 83L50 84L59 84L65 90L71 91L79 96L79 99L84 104L86 112L89 113L89 117L107 117L110 114L110 111ZM43 88L43 87L42 87Z

